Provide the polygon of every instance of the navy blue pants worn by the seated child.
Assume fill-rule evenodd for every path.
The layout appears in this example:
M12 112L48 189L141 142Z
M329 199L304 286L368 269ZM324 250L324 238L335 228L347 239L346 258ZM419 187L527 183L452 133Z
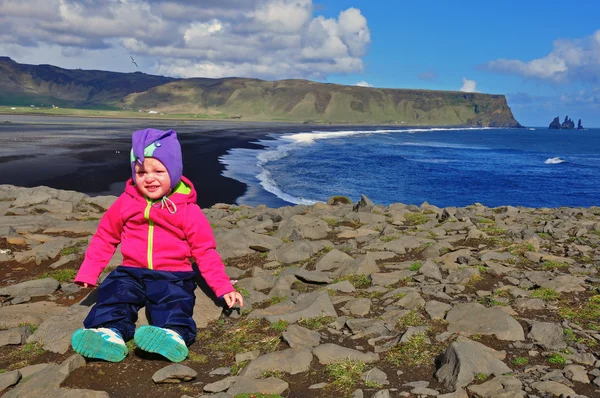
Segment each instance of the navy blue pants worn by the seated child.
M128 341L135 333L139 309L146 306L150 325L174 330L190 345L196 338L192 318L196 277L193 271L117 267L98 287L98 299L83 326L114 328Z

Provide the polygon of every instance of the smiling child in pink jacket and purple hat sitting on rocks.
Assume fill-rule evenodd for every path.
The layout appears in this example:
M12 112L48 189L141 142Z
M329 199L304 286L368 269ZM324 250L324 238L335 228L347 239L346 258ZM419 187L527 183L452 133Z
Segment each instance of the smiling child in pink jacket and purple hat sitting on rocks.
M181 362L196 337L196 273L189 258L230 308L242 306L243 298L225 274L194 186L181 175L175 131L139 130L132 143L133 178L102 217L75 283L95 286L119 244L123 264L98 288L85 328L73 333L71 344L84 357L120 362L128 353L125 341L133 338L140 349ZM142 306L151 326L136 331Z

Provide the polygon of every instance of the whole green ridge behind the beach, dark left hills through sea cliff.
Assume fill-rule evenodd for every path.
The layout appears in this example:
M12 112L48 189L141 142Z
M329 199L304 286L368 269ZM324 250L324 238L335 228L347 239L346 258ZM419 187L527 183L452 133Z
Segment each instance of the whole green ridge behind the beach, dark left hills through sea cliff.
M0 105L45 103L262 121L519 126L502 95L307 80L173 79L21 65L6 57L0 57L0 92Z

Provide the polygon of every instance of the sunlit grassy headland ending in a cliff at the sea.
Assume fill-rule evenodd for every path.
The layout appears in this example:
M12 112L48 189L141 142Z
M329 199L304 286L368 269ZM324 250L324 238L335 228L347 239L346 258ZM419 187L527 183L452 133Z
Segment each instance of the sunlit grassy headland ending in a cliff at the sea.
M306 80L185 79L128 95L123 104L166 113L225 113L249 120L518 126L502 95Z

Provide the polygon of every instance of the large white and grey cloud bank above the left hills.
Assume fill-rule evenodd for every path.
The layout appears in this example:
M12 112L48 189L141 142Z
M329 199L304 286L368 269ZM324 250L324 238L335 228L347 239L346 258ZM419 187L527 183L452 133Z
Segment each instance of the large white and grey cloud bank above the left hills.
M85 67L91 56L130 71L104 65L131 54L144 72L176 77L357 73L371 41L359 9L325 18L312 0L0 0L0 25L10 32L0 34L0 54L18 62Z

